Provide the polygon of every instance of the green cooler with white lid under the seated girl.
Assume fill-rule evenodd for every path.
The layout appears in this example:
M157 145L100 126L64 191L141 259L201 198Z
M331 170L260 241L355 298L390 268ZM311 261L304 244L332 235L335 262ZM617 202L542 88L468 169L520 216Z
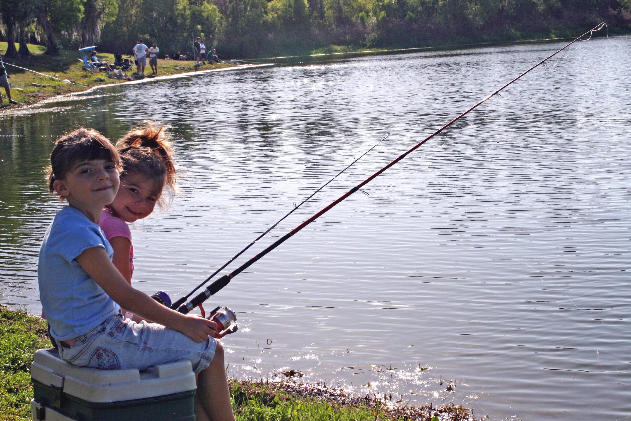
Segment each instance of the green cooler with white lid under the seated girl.
M139 372L78 367L54 349L35 352L33 420L195 421L197 388L189 360Z

